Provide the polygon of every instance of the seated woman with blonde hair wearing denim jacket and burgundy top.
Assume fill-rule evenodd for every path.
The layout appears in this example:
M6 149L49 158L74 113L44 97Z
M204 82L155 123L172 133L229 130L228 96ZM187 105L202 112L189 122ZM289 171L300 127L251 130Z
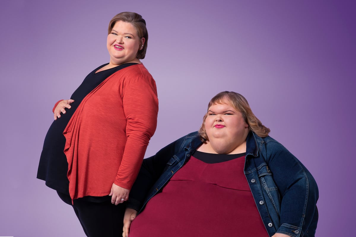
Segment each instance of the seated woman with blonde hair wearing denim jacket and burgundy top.
M269 131L239 93L214 96L198 132L143 161L123 236L314 236L316 182Z

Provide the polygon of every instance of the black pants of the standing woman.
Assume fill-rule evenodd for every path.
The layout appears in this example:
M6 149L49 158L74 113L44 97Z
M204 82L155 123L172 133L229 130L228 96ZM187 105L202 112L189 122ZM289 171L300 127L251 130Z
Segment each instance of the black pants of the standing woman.
M72 199L67 194L57 192L67 204L73 206L85 235L88 237L118 237L122 234L125 205L111 204L111 201L92 202L82 199Z

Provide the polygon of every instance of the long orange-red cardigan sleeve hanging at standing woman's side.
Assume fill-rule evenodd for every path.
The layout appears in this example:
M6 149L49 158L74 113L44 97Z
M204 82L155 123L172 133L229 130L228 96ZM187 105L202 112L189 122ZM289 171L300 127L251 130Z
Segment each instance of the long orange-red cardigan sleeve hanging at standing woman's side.
M122 102L126 116L126 145L114 183L131 189L142 164L151 136L157 126L156 83L148 71L125 80Z

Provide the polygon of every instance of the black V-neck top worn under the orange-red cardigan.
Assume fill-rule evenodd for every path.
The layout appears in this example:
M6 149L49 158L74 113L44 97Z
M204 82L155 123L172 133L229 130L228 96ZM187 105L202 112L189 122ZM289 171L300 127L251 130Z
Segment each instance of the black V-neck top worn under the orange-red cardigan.
M47 131L45 142L43 143L37 178L46 181L48 187L69 195L69 181L67 178L68 162L67 157L63 152L66 139L63 135L63 131L79 104L85 96L93 91L110 75L120 69L135 64L137 63L122 64L115 68L95 73L98 69L108 64L101 65L90 72L77 90L74 91L73 95L70 97L71 99L74 99L74 102L70 104L71 108L66 109L66 113L62 114L61 118L53 121Z

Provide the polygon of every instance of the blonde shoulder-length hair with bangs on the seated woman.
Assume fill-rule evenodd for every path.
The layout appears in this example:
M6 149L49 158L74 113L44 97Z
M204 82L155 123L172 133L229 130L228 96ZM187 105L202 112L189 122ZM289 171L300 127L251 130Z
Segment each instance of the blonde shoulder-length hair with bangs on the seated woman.
M209 104L208 104L208 110L210 106L213 104L221 104L223 103L224 99L227 99L232 107L234 107L237 111L240 111L242 113L242 117L244 118L245 122L248 124L248 127L250 128L251 131L257 134L257 136L260 136L261 138L265 138L268 136L269 128L267 128L265 125L261 123L261 121L255 116L255 114L252 113L252 110L250 106L248 105L248 102L244 96L242 96L239 93L233 92L233 91L223 91L218 93L218 95L214 96ZM208 135L206 134L205 130L205 119L208 116L208 113L206 113L203 117L203 124L201 124L199 128L199 136L201 141L209 141Z

